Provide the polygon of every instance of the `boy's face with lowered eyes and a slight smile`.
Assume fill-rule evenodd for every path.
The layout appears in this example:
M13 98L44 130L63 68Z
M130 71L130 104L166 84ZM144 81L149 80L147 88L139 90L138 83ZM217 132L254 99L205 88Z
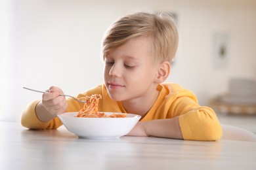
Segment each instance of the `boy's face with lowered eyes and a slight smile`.
M104 82L114 101L145 99L156 91L158 64L152 62L150 42L134 38L110 51L104 65Z

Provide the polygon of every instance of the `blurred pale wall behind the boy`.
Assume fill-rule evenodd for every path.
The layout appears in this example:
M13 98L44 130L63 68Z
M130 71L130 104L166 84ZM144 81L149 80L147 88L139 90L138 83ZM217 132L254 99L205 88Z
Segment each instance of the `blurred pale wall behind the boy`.
M254 0L1 0L0 120L59 86L77 95L103 82L102 36L129 12L171 12L180 43L167 82L194 92L200 105L227 93L230 79L256 79ZM254 117L255 120L255 117Z

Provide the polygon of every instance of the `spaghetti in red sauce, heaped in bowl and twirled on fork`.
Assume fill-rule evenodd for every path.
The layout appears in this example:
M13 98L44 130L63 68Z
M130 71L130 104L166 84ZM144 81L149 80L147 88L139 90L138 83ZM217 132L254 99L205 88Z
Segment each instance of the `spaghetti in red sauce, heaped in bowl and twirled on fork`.
M98 103L101 99L100 94L94 94L91 96L81 97L80 100L87 101L81 110L78 111L76 117L78 118L125 118L126 113L123 114L105 114L104 112L98 112Z

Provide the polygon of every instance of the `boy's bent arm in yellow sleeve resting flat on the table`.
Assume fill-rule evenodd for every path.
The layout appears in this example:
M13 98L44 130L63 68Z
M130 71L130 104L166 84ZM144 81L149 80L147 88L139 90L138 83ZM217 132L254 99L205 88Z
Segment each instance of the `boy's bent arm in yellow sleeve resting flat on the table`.
M173 118L138 122L127 135L197 141L216 141L221 138L221 124L215 112L209 107L200 107L190 97L177 99L169 114Z

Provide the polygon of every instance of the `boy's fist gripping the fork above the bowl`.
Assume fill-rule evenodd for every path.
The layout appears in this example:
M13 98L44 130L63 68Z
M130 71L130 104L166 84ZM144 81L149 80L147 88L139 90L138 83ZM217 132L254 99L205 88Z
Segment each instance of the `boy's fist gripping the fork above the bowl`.
M51 86L42 96L42 105L53 116L65 112L68 107L65 97L60 94L63 94L60 88Z

